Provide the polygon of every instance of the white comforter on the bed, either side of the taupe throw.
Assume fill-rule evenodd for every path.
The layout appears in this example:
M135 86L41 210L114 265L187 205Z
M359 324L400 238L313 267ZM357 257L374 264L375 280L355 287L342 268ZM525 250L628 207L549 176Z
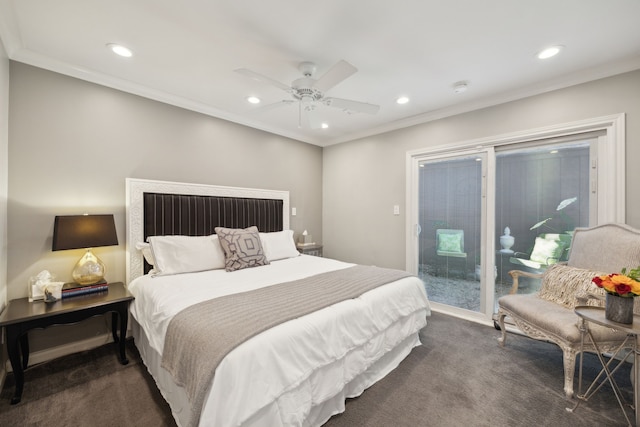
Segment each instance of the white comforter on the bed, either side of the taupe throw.
M129 290L131 314L150 347L141 353L160 356L171 318L192 304L351 265L299 256L233 273L139 277ZM417 333L429 314L424 284L410 277L267 330L220 363L200 425L320 425L343 410L345 397L360 394L420 344ZM156 382L183 424L184 399L168 397L173 392L159 375Z

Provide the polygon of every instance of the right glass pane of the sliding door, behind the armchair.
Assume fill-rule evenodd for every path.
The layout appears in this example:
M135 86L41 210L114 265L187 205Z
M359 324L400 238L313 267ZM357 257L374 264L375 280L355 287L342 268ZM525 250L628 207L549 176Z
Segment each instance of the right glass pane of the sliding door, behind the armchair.
M496 150L495 300L512 288L510 270L542 273L566 261L571 235L595 217L597 138L556 141ZM521 276L518 293L540 289L540 279Z

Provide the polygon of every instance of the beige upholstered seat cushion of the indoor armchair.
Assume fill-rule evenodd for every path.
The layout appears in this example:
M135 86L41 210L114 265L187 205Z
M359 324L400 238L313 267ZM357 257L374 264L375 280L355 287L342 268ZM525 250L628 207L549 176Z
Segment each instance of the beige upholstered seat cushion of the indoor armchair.
M563 340L572 344L580 343L578 329L580 317L574 313L573 309L544 300L537 294L505 295L498 299L498 305L525 322L536 325L542 331L562 337ZM589 324L589 329L596 342L624 340L626 336L625 332L614 331L594 323Z

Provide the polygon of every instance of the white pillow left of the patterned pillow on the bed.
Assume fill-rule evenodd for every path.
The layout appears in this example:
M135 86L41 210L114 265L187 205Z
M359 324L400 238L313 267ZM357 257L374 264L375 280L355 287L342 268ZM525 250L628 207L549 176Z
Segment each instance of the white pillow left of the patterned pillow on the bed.
M224 268L218 236L151 236L154 275L191 273Z

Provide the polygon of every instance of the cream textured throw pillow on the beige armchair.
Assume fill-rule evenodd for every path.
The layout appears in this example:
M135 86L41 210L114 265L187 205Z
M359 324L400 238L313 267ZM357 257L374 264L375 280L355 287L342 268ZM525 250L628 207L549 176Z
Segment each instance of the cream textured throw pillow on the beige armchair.
M573 309L576 306L576 294L578 293L591 293L604 296L604 290L598 288L591 282L594 277L603 274L607 273L569 267L564 264L554 264L542 275L539 296L544 300ZM603 301L595 299L589 300L588 304L599 307L604 306Z

